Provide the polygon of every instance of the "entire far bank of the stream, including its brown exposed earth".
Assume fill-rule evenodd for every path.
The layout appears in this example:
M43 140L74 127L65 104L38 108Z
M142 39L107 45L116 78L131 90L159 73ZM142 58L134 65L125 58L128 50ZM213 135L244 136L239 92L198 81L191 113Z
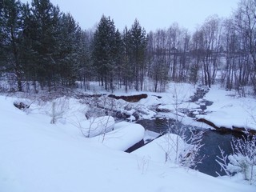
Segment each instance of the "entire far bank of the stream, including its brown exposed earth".
M35 94L28 98L32 101L45 102L46 95L48 94ZM50 98L49 95L47 97ZM24 98L22 94L21 98ZM209 89L206 86L194 86L188 83L170 83L165 93L134 90L126 93L125 90L115 90L111 94L102 90L100 86L95 86L94 91L78 90L61 99L52 97L48 102L56 100L65 102L69 98L76 98L85 105L86 118L106 114L118 121L129 122L172 118L184 125L201 129L256 133L256 99L250 96L241 98L235 91L227 91L219 86L212 86ZM59 103L59 106L62 106L62 103ZM65 117L65 113L63 116L70 118Z

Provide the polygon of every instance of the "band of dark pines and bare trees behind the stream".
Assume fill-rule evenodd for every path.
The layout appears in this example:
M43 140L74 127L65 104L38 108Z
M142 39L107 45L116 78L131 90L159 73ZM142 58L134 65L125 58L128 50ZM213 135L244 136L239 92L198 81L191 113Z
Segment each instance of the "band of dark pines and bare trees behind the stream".
M138 19L119 31L105 15L83 30L50 0L0 0L0 79L15 91L98 82L161 92L173 81L256 94L255 13L256 1L241 0L230 18L210 16L193 33L178 23L146 32Z

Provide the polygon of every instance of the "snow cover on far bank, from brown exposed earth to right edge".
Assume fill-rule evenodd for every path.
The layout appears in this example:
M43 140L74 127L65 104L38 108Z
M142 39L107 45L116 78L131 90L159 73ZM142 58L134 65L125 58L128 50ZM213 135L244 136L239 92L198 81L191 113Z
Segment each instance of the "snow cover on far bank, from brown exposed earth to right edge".
M206 87L202 87L205 89ZM201 128L220 128L222 130L252 130L256 133L256 99L250 95L246 98L239 97L235 91L227 91L219 86L212 86L198 101L191 101L197 91L197 86L190 84L170 84L166 93L143 92L146 98L138 102L125 102L122 99L116 101L116 109L129 114L130 120L136 118L133 114L136 110L138 118L174 118L185 125ZM116 95L133 95L138 92ZM210 102L209 106L205 106ZM108 106L110 108L110 106ZM193 114L191 117L190 114ZM198 122L196 120L205 120ZM204 123L207 122L207 123ZM255 131L254 131L255 130Z

